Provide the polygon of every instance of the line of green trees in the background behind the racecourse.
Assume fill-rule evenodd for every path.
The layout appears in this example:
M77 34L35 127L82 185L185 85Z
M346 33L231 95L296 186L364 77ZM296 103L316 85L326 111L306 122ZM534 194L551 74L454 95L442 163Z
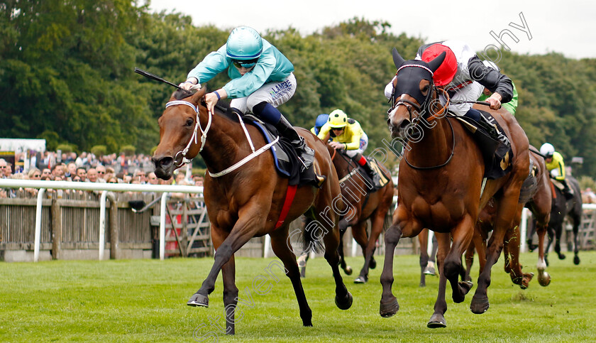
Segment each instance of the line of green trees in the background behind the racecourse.
M173 88L141 77L134 67L178 83L231 28L195 23L181 13L152 13L126 0L0 1L0 136L45 138L48 148L78 151L132 145L150 153L157 119ZM395 35L390 24L353 18L308 36L293 28L262 32L294 63L298 88L280 107L310 128L340 108L362 124L369 152L390 141L383 89L395 67L392 48L414 58L421 38ZM478 48L478 47L475 47ZM561 53L502 51L497 62L519 92L516 118L539 147L553 143L574 173L596 175L596 59ZM217 89L227 82L218 75Z

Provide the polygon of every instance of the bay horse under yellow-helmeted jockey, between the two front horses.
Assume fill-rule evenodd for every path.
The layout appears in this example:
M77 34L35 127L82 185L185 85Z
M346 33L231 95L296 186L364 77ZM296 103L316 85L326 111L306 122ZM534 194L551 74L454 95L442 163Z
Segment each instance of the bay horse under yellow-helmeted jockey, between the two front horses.
M341 237L348 227L352 227L352 235L358 245L362 248L364 256L364 265L360 270L360 275L354 280L354 283L368 282L368 269L375 268L375 249L377 239L383 231L387 212L393 202L393 181L389 170L385 165L378 163L382 168L388 181L382 188L371 192L374 185L368 179L361 175L360 168L354 160L343 153L341 150L334 150L333 166L338 174L339 185L341 186L341 195L343 202L348 206L348 211L339 221L339 232ZM370 235L367 232L367 222L370 219ZM346 266L343 244L340 238L339 253L341 258L341 267L348 275L351 274L351 267Z

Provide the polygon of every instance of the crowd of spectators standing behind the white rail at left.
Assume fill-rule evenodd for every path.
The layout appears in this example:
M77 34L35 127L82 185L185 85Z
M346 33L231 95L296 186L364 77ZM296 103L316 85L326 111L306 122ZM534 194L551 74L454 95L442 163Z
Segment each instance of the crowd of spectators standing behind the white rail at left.
M15 156L13 165L0 158L0 178L22 180L55 180L87 183L133 183L151 185L199 185L202 176L185 173L181 168L170 180L161 180L153 173L150 156L143 154L125 156L121 153L96 158L92 153L57 153L45 151L26 158L25 153ZM24 192L14 189L0 189L0 197L36 195L35 188L25 188ZM51 195L51 190L49 195ZM62 192L61 192L62 193Z

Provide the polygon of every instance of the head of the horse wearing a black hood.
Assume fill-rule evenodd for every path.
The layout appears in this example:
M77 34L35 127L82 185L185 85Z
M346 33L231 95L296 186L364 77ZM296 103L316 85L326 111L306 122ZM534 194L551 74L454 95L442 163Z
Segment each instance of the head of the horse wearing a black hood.
M419 130L409 131L410 124L420 118L427 119L436 115L436 88L433 73L445 59L441 53L430 62L421 60L404 60L397 50L393 49L393 62L397 67L393 80L392 108L387 124L394 138L419 138Z

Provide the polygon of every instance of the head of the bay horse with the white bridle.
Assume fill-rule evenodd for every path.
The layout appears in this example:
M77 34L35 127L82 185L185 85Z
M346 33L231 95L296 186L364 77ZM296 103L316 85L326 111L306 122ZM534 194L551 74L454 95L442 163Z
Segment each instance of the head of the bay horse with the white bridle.
M178 97L179 92L172 94L158 120L160 143L152 160L155 175L164 180L171 178L174 170L180 168L185 161L197 156L202 143L201 132L197 132L197 121L199 111L206 112L201 104L206 88L203 87L184 99Z

